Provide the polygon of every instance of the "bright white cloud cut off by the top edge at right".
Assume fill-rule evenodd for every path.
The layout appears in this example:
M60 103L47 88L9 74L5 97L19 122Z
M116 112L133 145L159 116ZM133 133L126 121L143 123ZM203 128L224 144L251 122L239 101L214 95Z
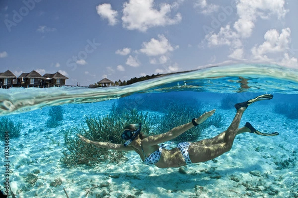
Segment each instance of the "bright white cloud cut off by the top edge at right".
M283 18L288 10L284 8L284 0L239 0L237 4L238 21L234 28L243 38L248 38L254 28L257 18L268 19L271 15Z

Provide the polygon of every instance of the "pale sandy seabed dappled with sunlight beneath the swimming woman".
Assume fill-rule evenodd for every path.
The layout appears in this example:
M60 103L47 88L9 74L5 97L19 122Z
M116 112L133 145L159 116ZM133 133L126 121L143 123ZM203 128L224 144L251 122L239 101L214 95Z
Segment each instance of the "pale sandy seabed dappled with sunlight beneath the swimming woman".
M260 131L278 131L279 136L240 134L231 151L212 161L159 169L129 152L120 164L64 168L60 162L66 149L64 131L79 127L89 114L105 115L112 103L65 105L63 125L57 128L45 127L49 108L9 116L25 126L19 138L10 140L9 180L16 197L66 198L64 189L69 198L298 197L297 120L275 114L272 105L250 106L240 126L250 121ZM225 126L210 126L202 138L224 131L235 110L218 108L216 113L223 115ZM172 143L166 145L170 148ZM3 183L0 188L4 189Z

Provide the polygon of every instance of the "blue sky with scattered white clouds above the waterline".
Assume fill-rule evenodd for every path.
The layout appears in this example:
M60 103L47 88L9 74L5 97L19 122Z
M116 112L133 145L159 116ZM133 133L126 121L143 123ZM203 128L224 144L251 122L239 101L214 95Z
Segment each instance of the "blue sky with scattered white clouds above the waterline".
M297 0L0 0L0 72L94 84L271 63L298 68Z

